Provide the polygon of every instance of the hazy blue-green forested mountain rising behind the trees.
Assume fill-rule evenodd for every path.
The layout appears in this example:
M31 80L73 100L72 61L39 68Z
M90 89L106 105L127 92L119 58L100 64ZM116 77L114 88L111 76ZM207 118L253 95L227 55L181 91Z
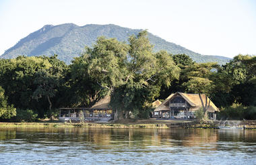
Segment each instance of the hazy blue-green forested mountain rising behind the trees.
M140 31L112 24L78 26L73 23L65 23L61 25L44 25L40 30L33 32L20 40L18 44L6 50L0 57L15 58L19 55L51 56L58 54L59 59L69 63L73 57L82 54L85 46L92 46L99 36L127 41L129 36L137 35ZM230 60L230 58L222 56L203 56L172 42L166 42L150 33L148 38L154 45L154 51L166 50L170 54L187 54L196 62L218 62L219 64L224 64Z

